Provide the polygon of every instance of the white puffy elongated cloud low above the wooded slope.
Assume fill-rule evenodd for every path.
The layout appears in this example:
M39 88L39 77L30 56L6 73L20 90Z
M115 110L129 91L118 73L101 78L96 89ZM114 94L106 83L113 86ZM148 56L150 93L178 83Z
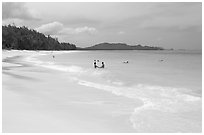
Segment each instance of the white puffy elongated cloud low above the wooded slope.
M38 28L36 28L37 31L42 32L46 35L68 35L68 34L81 34L81 33L87 33L87 34L94 34L97 32L96 28L94 27L65 27L60 22L52 22L48 24L44 24Z

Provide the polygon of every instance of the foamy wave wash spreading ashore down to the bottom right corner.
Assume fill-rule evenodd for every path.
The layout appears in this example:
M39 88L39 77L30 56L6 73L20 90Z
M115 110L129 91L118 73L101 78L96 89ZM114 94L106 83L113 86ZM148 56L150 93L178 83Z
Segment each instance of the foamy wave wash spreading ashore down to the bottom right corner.
M109 91L117 96L141 100L143 105L134 108L129 119L133 128L138 132L186 132L188 130L200 130L200 123L194 123L194 120L192 121L185 117L189 117L188 115L191 111L197 110L197 112L201 112L202 99L201 97L181 93L181 91L189 91L184 88L146 84L126 87L120 82L112 82L111 85L107 85L85 80L78 80L78 84ZM183 118L181 114L184 114ZM187 115L185 116L185 114ZM191 129L186 128L189 126Z

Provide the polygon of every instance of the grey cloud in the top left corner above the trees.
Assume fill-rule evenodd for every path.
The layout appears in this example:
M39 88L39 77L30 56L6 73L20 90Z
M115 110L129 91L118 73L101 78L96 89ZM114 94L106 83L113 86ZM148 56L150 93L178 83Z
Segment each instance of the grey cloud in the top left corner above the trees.
M25 3L3 2L2 18L4 19L22 19L22 20L38 20L39 15L36 11L28 9Z

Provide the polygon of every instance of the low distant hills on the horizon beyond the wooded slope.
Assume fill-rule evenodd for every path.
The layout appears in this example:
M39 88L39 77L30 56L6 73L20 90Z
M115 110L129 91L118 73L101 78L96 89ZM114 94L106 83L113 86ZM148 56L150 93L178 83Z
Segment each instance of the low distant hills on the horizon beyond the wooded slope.
M91 47L77 48L79 50L164 50L161 47L127 45L125 43L100 43Z

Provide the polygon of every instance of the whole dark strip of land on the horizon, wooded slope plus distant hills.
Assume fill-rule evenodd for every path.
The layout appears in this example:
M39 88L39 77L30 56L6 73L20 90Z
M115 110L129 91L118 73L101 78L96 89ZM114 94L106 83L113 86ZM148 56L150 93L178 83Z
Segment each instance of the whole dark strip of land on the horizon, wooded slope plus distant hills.
M6 50L164 50L161 47L127 45L125 43L100 43L80 48L71 43L60 43L57 38L46 36L25 26L2 26L2 49Z

